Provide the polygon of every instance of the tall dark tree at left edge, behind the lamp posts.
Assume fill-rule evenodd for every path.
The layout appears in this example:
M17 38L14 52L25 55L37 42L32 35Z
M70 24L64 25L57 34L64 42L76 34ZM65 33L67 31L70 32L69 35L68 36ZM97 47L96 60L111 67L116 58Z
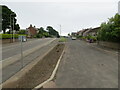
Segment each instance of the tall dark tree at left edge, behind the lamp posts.
M9 9L7 6L2 5L2 30L3 33L6 32L6 29L12 29L13 30L13 26L14 29L16 29L17 31L19 30L19 24L16 24L17 19L15 18L16 14ZM14 21L14 23L13 23ZM11 26L10 26L11 23Z

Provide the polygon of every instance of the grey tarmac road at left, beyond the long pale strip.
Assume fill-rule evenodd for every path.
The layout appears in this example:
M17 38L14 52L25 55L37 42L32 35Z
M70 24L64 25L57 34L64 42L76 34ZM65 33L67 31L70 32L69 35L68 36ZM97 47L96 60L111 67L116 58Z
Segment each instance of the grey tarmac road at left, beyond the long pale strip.
M51 38L47 39L34 39L28 42L23 42L23 51L26 51L28 49L34 48L38 45L41 45L45 42L48 42L51 40ZM10 44L10 45L3 45L2 47L2 60L12 57L14 55L20 54L21 53L21 43L16 43L16 44Z

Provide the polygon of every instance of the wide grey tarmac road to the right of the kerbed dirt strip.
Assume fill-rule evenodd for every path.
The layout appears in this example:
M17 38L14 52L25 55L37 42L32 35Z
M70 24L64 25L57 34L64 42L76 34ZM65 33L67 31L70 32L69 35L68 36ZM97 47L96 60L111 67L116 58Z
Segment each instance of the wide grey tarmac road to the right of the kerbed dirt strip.
M80 40L68 40L56 74L57 88L117 88L116 51Z

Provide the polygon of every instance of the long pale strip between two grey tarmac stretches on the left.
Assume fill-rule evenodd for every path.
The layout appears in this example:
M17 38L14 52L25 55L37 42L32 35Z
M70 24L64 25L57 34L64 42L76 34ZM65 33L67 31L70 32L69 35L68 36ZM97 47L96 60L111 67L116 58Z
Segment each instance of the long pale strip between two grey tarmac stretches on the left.
M23 52L23 55L24 55L23 57L29 55L30 53L32 53L32 52L34 52L36 50L38 50L39 48L42 48L43 46L48 45L49 43L51 43L54 40L56 40L56 39L52 39L52 40L50 40L50 41L48 41L48 42L46 42L46 43L44 43L44 44L42 44L40 46L38 45L37 47L34 47L32 49L24 51ZM20 60L20 59L21 59L21 54L14 55L13 57L9 57L7 59L4 59L4 60L0 61L0 65L2 65L2 68L5 68L6 66L8 66L8 65ZM0 67L0 69L2 69L2 68Z

